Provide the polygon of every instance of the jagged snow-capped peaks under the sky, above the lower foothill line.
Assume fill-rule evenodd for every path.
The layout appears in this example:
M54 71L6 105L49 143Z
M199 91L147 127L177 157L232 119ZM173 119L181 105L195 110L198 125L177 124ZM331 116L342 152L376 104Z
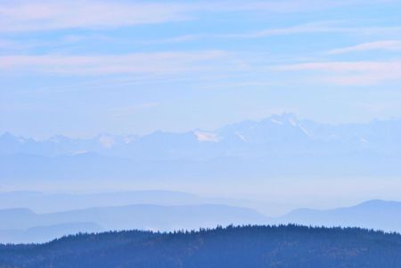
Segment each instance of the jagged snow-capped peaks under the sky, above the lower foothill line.
M284 113L261 121L243 121L216 131L187 133L156 131L139 136L100 134L93 139L63 135L43 141L0 135L0 155L32 154L44 157L96 153L132 159L208 159L216 157L294 156L306 153L355 153L360 150L389 155L401 153L401 119L365 124L327 125L299 120ZM262 146L262 147L261 147Z

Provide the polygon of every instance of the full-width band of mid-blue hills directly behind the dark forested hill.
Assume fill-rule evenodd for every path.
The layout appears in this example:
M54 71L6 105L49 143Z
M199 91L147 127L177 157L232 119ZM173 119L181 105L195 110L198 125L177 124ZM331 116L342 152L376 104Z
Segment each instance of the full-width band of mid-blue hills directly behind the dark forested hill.
M113 196L116 197L117 193ZM352 207L326 210L299 208L285 215L267 216L249 207L202 203L202 199L191 199L191 196L185 197L184 194L182 197L184 199L181 201L184 201L184 204L191 202L193 204L167 206L138 203L117 207L86 207L52 213L36 213L29 208L0 209L0 243L45 242L78 232L132 229L198 230L230 224L297 223L308 226L360 227L401 233L401 202L396 201L369 200ZM140 200L143 197L136 199ZM74 206L77 199L74 200L71 196L70 200ZM177 201L180 200L171 200L170 204Z

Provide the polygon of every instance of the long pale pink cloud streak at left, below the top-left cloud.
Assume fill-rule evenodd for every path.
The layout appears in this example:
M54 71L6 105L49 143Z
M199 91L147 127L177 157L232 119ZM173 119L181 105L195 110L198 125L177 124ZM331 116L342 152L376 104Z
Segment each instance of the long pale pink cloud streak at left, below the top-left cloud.
M0 69L66 75L174 74L230 68L229 53L222 51L184 53L130 53L122 55L11 55L0 56Z

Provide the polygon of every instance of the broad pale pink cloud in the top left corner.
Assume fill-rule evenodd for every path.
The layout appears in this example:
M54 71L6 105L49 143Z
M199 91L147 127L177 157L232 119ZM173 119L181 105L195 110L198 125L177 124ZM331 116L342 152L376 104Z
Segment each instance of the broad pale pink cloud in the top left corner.
M0 6L0 31L113 28L185 20L183 4L122 1L12 1Z

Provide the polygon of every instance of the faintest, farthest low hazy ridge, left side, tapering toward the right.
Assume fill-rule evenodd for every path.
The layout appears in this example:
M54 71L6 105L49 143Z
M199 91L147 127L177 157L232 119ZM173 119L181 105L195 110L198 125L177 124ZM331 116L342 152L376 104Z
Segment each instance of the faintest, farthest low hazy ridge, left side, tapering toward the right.
M219 204L250 207L266 215L282 215L291 210L288 204L249 199L203 197L183 191L116 191L92 193L45 193L40 191L0 191L0 211L26 207L38 214L84 209L88 207L120 207L134 204L188 206ZM293 208L293 207L292 207Z

